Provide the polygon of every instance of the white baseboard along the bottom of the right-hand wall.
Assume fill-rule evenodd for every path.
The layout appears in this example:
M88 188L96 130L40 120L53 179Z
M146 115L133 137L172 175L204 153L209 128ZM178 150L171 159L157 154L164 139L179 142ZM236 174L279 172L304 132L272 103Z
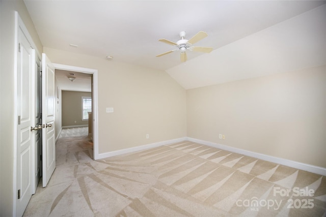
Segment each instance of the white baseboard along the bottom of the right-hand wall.
M264 161L269 161L269 162L273 162L276 164L281 164L281 165L285 165L288 167L293 167L296 169L305 170L308 172L317 173L317 174L326 176L326 168L323 168L323 167L318 167L318 166L304 164L304 163L291 161L291 160L287 160L287 159L283 159L283 158L268 156L268 155L262 154L262 153L257 153L257 152L253 152L253 151L248 151L248 150L244 150L244 149L240 149L240 148L235 148L235 147L222 145L222 144L218 144L218 143L214 143L214 142L208 142L208 141L204 141L204 140L200 140L200 139L194 139L194 138L190 138L190 137L187 137L186 140L191 141L191 142L200 143L203 145L208 145L208 146L215 147L215 148L220 148L223 150L232 151L235 153L244 154L246 156L261 159Z

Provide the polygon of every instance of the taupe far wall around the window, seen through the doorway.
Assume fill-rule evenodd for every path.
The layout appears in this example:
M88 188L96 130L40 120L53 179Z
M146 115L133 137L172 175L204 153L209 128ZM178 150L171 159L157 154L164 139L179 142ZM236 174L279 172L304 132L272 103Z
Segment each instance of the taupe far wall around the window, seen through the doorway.
M62 127L88 125L88 120L82 120L82 97L92 97L92 93L62 91Z

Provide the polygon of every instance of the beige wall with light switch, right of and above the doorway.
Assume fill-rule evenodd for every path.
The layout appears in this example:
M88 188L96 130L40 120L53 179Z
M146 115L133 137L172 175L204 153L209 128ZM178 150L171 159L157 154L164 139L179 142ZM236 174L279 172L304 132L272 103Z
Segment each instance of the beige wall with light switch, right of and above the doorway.
M185 90L166 72L47 47L44 52L52 63L98 70L99 153L186 136Z

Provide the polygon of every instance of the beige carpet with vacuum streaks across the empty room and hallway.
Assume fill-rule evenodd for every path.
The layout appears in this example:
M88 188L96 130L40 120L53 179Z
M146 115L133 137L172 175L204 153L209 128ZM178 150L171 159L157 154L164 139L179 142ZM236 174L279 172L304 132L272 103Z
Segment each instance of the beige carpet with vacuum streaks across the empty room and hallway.
M325 176L226 150L185 141L98 161L92 153L88 137L59 139L57 168L24 216L326 214Z

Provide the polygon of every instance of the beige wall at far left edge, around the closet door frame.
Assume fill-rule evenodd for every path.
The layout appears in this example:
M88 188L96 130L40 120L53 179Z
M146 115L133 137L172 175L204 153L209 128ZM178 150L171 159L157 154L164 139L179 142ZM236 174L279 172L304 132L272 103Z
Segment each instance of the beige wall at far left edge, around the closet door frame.
M1 68L0 68L0 216L13 213L14 174L14 51L15 51L15 11L28 28L39 52L42 44L33 22L22 1L0 2L1 26Z

